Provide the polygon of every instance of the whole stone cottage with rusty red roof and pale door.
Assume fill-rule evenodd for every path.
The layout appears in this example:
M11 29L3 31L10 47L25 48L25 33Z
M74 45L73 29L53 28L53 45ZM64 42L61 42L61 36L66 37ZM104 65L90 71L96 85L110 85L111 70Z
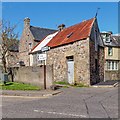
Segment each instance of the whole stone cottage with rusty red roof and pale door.
M97 18L59 28L46 44L46 64L53 65L53 80L86 85L103 81L104 46Z

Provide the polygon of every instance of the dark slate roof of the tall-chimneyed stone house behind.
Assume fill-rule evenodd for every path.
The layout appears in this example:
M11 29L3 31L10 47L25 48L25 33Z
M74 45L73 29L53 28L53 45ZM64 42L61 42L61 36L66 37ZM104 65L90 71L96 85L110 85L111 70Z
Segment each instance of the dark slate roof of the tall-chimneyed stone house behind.
M45 36L52 34L52 33L56 32L57 30L30 26L30 31L32 32L35 40L40 41L43 38L45 38Z

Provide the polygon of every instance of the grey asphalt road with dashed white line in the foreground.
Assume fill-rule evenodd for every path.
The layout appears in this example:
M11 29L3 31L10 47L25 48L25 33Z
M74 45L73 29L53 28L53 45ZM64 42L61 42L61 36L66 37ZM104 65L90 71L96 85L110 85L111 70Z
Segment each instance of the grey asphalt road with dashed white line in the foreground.
M118 88L64 88L46 98L2 97L3 118L118 118Z

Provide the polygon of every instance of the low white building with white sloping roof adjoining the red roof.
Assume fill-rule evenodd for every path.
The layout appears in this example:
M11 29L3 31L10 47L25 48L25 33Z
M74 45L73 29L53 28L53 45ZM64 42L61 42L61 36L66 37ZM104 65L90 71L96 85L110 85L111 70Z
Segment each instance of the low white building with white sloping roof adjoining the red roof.
M46 36L30 52L30 66L39 66L45 64L49 47L45 47L58 32Z

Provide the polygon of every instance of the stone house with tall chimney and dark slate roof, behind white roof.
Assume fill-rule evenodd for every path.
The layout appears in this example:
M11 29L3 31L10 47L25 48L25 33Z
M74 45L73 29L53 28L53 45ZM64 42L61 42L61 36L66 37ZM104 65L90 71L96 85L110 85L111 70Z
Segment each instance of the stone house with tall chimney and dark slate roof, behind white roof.
M56 32L56 30L34 27L30 25L30 18L24 19L24 29L19 44L19 62L30 65L29 52L37 45L40 40L49 34Z

